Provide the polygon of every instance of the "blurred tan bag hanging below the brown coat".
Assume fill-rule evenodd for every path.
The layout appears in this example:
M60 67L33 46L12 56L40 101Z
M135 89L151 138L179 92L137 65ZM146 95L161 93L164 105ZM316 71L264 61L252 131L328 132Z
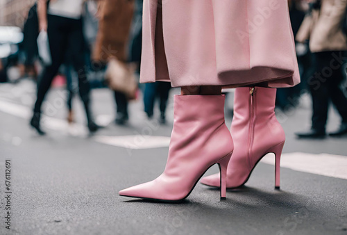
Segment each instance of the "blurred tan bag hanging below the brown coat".
M135 65L111 58L105 72L105 81L111 90L124 93L128 99L136 99Z

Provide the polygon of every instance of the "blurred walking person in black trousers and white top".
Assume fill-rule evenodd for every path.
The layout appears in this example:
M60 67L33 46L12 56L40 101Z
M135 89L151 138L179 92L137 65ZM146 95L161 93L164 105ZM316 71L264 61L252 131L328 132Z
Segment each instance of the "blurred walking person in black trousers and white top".
M60 65L62 65L67 51L71 54L74 69L78 72L78 91L82 99L87 116L87 127L94 132L99 127L94 123L90 104L90 84L87 80L82 24L83 0L47 0L37 1L37 15L39 30L46 31L51 51L51 65L46 65L37 84L37 99L31 126L38 133L44 134L40 127L41 106L46 92L51 86Z

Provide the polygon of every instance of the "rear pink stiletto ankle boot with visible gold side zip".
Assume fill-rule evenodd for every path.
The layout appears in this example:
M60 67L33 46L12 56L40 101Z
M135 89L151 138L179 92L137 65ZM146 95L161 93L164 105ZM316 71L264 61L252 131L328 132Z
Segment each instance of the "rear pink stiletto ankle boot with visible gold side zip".
M285 145L285 132L275 116L276 89L236 88L231 135L235 151L228 164L226 186L243 186L255 165L268 153L276 155L276 182L280 188L280 155ZM219 175L210 175L202 184L219 187Z

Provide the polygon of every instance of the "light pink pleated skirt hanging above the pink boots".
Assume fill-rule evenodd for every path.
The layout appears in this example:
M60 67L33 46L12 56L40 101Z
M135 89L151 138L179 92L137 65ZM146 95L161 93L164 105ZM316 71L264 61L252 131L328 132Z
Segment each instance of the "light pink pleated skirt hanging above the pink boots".
M144 0L140 81L295 86L287 0Z

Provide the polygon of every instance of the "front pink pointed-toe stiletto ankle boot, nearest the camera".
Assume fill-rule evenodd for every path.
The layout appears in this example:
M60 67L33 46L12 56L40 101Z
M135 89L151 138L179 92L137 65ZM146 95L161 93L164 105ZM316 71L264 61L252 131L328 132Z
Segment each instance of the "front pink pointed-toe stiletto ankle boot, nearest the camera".
M226 168L234 149L224 122L223 95L175 95L174 128L167 165L153 181L126 188L119 195L162 201L183 200L215 163L226 197ZM220 184L220 182L219 182Z

